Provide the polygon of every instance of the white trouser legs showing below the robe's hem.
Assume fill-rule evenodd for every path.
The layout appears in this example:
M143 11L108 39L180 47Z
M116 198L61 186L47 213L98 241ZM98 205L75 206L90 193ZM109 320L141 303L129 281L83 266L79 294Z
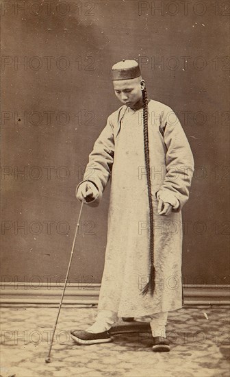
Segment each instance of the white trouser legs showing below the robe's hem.
M168 312L156 313L148 315L150 317L150 326L153 337L166 337L166 324ZM101 310L97 314L96 321L92 326L86 329L88 332L98 333L110 330L112 325L118 321L118 316L113 311Z

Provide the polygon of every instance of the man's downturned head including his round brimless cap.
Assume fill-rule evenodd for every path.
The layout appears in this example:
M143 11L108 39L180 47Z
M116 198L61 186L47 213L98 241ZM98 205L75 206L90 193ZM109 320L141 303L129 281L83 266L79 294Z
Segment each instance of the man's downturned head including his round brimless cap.
M134 108L142 101L144 80L136 60L123 60L112 66L112 80L116 97L123 104Z

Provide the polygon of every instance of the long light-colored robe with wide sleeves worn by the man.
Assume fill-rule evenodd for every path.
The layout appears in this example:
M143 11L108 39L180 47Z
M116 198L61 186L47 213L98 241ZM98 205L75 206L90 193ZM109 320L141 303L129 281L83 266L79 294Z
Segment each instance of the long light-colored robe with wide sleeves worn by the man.
M99 190L92 205L97 205L111 178L99 309L114 311L119 317L140 317L182 306L181 208L188 200L194 160L175 113L153 100L148 111L156 271L153 296L141 294L150 269L142 109L122 106L108 117L84 175L84 180L93 182ZM157 191L169 203L176 197L179 208L168 216L157 215Z

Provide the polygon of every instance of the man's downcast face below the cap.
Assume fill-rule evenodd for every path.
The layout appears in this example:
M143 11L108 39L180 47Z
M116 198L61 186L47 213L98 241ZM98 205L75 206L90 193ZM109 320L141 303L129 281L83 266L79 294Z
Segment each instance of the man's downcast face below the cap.
M114 92L122 104L133 107L142 98L142 78L114 80Z

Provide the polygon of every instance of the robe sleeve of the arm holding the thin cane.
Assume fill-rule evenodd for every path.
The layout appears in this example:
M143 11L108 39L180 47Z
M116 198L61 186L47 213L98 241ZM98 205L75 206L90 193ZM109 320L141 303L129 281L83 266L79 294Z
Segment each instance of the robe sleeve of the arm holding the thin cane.
M94 147L89 156L88 165L84 173L84 179L80 184L85 181L92 182L98 189L99 195L88 204L97 206L101 201L103 191L107 182L110 180L112 173L112 165L114 162L114 127L110 117L107 119L107 124L99 138L94 143ZM76 193L77 193L76 189Z

